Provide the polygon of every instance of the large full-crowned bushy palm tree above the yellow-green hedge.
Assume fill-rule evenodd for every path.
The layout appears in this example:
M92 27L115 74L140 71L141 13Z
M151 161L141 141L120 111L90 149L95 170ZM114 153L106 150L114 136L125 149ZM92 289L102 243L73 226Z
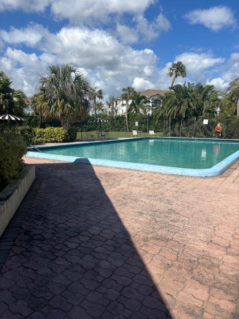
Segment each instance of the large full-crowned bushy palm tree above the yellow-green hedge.
M91 87L72 64L50 65L46 76L37 84L37 94L44 101L43 115L60 120L69 129L71 121L88 115Z

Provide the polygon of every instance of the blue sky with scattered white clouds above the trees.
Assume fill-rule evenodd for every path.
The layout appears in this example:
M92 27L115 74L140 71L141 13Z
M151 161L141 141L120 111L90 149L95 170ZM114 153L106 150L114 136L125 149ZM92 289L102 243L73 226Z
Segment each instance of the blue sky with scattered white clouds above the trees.
M226 90L239 77L238 0L0 0L0 70L35 92L50 64L73 63L105 99L121 88L168 89L186 79Z

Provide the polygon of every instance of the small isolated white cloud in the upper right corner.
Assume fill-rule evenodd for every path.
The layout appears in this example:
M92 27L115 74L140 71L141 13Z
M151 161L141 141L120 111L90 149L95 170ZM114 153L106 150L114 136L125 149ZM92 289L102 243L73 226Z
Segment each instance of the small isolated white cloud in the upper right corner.
M191 24L203 24L213 31L236 25L234 13L227 6L212 6L209 9L193 10L184 17L188 19Z

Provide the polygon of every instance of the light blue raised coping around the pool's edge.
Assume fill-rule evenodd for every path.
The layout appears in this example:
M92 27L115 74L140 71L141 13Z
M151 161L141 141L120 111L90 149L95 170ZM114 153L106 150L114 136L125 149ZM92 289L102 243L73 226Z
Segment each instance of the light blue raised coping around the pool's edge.
M142 139L152 139L151 137L138 137L138 138L127 138L122 140L107 140L107 141L92 141L92 142L79 142L79 143L64 143L61 145L50 145L50 146L39 146L37 149L48 149L48 148L59 148L62 146L77 146L77 145L88 145L88 144L99 144L99 143L120 143L129 140L142 140ZM165 139L165 137L154 137L154 139ZM230 142L239 142L239 140L226 140L226 139L200 139L200 138L169 138L167 139L187 139L187 140L209 140L209 141L230 141ZM28 149L33 149L28 148ZM151 164L142 164L134 162L125 162L125 161L116 161L116 160L102 160L102 159L91 159L91 158L79 158L74 156L66 155L57 155L57 154L47 154L47 153L38 153L28 151L26 157L47 159L47 160L59 160L67 162L77 162L91 165L100 165L100 166L110 166L126 169L135 169L142 171L151 171L164 174L174 174L174 175L185 175L185 176L195 176L195 177L212 177L222 174L228 167L230 167L235 161L239 160L239 151L231 154L229 157L220 161L216 165L210 168L183 168L183 167L171 167L171 166L162 166L162 165L151 165Z

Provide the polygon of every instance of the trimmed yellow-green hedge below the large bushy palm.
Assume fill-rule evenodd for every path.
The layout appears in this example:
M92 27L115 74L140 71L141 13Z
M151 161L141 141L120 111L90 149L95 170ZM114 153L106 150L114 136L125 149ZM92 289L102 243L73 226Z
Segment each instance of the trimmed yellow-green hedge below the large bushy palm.
M34 143L63 142L67 139L67 131L64 128L49 127L46 129L34 129Z

